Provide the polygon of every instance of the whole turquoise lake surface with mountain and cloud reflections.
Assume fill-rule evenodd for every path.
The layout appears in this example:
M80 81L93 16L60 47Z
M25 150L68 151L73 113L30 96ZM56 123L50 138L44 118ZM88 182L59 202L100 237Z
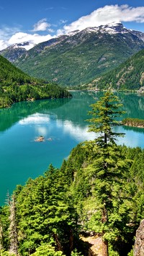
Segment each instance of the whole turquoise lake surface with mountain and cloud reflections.
M6 193L29 177L42 175L50 164L60 167L76 144L94 139L88 133L89 105L102 92L73 92L72 99L19 102L0 110L0 205ZM144 97L118 94L127 113L124 117L144 119ZM125 133L118 144L144 148L144 129L118 127ZM38 136L45 141L36 142Z

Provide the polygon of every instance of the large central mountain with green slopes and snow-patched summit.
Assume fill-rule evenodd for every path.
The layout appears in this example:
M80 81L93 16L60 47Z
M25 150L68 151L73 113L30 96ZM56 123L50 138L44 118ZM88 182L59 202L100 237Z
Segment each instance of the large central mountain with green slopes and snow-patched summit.
M58 84L86 84L142 50L140 35L121 23L89 27L35 45L14 64L31 76Z

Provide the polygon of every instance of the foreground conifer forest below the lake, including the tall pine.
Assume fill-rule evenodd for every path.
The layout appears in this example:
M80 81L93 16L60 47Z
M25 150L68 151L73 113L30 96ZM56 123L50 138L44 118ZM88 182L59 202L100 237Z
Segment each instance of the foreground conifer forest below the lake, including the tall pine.
M60 169L17 185L0 209L1 256L131 256L144 217L144 150L117 146L112 128L122 123L122 105L112 92L91 105L89 131ZM99 134L99 136L97 136ZM99 254L95 251L95 255Z

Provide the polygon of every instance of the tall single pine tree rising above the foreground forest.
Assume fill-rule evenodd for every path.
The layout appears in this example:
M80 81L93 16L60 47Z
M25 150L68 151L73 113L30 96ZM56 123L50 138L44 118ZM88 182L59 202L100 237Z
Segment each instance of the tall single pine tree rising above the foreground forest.
M114 126L121 125L116 118L122 115L120 101L112 92L106 92L98 102L91 105L89 112L92 118L88 120L89 131L96 133L95 148L96 159L91 165L91 172L94 176L94 193L96 200L99 201L101 210L101 233L102 233L102 253L108 256L109 214L114 212L114 198L117 197L117 185L122 179L122 171L125 162L120 154L119 147L115 143L117 137L123 133L116 133L112 130ZM116 208L116 207L115 207ZM112 222L112 220L111 220ZM111 225L112 227L112 225ZM113 234L114 235L114 234Z

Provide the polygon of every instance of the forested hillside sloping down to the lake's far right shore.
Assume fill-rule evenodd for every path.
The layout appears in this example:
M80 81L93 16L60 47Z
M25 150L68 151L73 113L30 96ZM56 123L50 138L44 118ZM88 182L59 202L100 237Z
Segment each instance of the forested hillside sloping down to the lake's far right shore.
M140 89L144 86L144 50L120 64L116 69L100 76L89 87L106 89Z

